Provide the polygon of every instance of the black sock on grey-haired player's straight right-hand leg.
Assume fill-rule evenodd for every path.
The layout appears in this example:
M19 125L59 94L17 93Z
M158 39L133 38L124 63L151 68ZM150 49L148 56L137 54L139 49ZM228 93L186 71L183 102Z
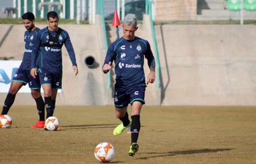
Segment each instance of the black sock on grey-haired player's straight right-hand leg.
M137 142L140 132L140 116L132 116L132 125L130 125L132 143Z

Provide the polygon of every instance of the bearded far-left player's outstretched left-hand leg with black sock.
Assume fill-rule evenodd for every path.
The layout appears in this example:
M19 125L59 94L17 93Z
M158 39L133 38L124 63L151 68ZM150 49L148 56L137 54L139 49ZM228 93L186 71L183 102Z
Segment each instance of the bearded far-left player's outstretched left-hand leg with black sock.
M4 100L4 105L2 106L1 114L7 114L12 104L14 103L15 97L19 89L24 85L21 81L12 81L9 88L9 92Z

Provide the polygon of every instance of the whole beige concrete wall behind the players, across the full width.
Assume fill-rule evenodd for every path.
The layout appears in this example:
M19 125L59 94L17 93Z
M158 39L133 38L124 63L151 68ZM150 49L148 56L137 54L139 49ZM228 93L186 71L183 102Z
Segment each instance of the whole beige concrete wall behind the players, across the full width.
M112 104L111 92L106 88L107 76L101 71L105 51L100 26L60 25L70 33L79 74L73 75L63 48L63 91L58 94L57 105ZM0 29L8 28L0 25ZM9 34L12 38L7 37L0 54L15 56L17 60L24 50L24 27L14 25L13 29ZM143 36L152 44L149 25L141 25L138 30L138 34L144 31ZM147 87L147 105L256 105L254 25L157 25L155 32L161 88L158 90L155 84ZM99 63L97 68L85 65L88 55ZM5 96L0 94L1 104ZM30 94L20 93L14 104L34 104L34 100Z

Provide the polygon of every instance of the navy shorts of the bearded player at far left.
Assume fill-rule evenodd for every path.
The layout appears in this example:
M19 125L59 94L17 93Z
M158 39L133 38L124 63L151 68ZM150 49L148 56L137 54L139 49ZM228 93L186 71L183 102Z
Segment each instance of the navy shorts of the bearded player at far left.
M23 85L29 83L29 88L30 89L40 89L40 80L39 76L37 75L36 78L34 79L30 75L30 70L23 70L22 68L19 68L16 70L12 81L19 81L23 83Z

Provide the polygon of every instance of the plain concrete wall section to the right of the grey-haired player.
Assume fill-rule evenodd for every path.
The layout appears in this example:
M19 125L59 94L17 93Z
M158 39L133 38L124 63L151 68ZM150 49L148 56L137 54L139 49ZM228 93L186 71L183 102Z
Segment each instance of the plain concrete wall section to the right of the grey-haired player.
M155 29L162 105L256 104L255 25Z

